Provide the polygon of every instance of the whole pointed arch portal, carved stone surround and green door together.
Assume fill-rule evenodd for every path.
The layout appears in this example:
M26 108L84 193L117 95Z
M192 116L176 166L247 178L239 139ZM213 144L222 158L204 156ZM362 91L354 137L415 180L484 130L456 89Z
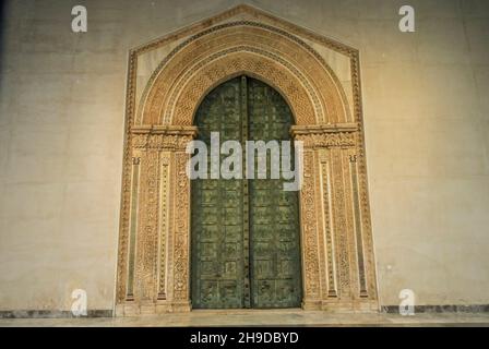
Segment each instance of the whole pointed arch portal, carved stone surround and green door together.
M333 56L346 62L342 70L348 72L347 82L330 67ZM143 80L143 63L155 57L159 63ZM217 181L212 185L219 190L213 191L206 190L211 182L193 182L186 173L186 146L205 136L212 120L202 119L202 108L230 82L239 82L242 93L242 79L266 98L273 96L273 105L260 106L265 115L288 110L288 123L277 122L285 115L278 112L262 129L303 142L303 181L296 204L284 204L275 215L269 206L294 200L282 197L266 181L235 183L239 190L227 193L224 186L232 181ZM192 305L377 310L357 50L239 5L131 50L127 91L118 315L189 311ZM251 107L253 103L260 105L253 100ZM239 124L240 136L243 124L250 136L253 123ZM212 202L216 193L239 193L239 207L219 196L217 214L210 215L213 207L204 201ZM222 206L227 203L229 207ZM223 218L227 209L240 213L234 220ZM211 222L203 225L205 219ZM231 231L236 219L241 234L232 240L226 229ZM244 219L252 221L244 225ZM291 229L281 228L281 219ZM214 233L205 240L210 231ZM288 248L283 260L274 252ZM269 252L260 257L260 251ZM287 276L295 268L299 273ZM257 277L260 273L263 277ZM289 298L283 296L287 290Z

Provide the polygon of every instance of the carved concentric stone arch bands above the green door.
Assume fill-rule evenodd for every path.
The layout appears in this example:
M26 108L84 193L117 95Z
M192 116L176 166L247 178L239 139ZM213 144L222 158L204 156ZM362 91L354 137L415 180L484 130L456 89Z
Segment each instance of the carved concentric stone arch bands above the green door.
M296 124L349 119L337 77L312 48L274 27L232 22L192 36L159 64L143 93L135 124L192 124L205 94L238 74L281 92Z

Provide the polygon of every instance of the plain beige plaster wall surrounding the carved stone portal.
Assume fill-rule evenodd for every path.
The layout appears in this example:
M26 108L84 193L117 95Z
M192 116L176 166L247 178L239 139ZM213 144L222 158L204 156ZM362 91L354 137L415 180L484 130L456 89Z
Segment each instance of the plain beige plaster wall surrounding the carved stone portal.
M130 48L238 1L19 0L0 56L0 310L111 309ZM360 50L381 304L489 303L489 3L252 1ZM416 9L417 32L397 29ZM145 79L142 76L141 79Z

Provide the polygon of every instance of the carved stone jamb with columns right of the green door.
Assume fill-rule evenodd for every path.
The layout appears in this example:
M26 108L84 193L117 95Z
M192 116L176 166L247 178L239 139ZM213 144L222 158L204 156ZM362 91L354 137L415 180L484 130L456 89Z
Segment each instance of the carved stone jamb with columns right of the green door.
M300 193L305 309L366 310L377 306L371 245L361 215L356 123L293 127L303 142ZM370 253L370 250L369 252ZM366 262L368 261L368 262ZM369 289L370 291L369 292Z

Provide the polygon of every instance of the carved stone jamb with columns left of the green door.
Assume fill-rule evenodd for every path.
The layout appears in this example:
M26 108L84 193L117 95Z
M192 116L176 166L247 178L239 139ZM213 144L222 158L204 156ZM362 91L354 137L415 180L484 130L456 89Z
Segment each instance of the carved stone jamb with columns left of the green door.
M124 231L128 263L118 314L190 310L186 146L195 134L193 127L131 130L132 190Z

